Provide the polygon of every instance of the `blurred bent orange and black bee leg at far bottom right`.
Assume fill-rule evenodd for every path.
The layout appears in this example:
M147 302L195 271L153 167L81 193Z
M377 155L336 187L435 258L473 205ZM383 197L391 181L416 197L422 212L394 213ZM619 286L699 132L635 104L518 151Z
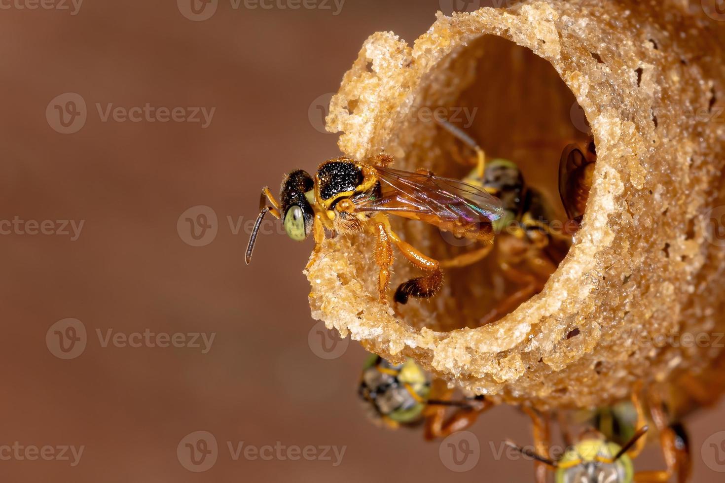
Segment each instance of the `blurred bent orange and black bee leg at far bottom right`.
M678 483L689 481L692 462L689 455L689 438L681 424L670 424L658 397L650 403L650 414L660 432L660 446L667 469L664 471L640 471L634 475L637 483L665 483L676 476Z

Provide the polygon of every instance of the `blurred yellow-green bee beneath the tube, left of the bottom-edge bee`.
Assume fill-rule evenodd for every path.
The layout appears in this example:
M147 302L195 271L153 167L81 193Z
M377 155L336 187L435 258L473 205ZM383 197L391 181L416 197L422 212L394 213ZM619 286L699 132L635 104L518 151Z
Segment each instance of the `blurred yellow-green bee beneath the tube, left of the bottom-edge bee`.
M412 358L396 365L371 355L363 366L358 393L373 419L392 429L423 423L426 440L466 429L494 406L483 396L452 400L453 390L440 379L431 382ZM455 411L446 418L448 408Z

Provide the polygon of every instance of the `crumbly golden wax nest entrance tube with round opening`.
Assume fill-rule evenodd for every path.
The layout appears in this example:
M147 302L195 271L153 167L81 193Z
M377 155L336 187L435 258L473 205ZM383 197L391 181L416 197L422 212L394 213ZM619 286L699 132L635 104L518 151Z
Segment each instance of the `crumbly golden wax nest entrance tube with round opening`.
M531 1L439 14L412 47L393 33L368 38L327 118L345 155L385 152L394 168L460 177L470 167L454 159L456 141L431 118L443 107L463 127L477 107L466 131L489 156L521 164L556 206L563 145L557 152L552 144L585 137L589 125L594 182L558 269L497 322L479 326L512 286L488 259L447 270L430 300L379 303L368 235L323 242L307 271L312 316L393 361L410 356L468 390L539 408L607 404L638 381L667 383L717 358L716 334L725 330L725 243L712 224L725 215L722 37L718 22L702 11L692 17L686 4ZM390 219L437 259L476 248ZM420 273L398 254L391 295ZM701 343L682 343L688 334Z

